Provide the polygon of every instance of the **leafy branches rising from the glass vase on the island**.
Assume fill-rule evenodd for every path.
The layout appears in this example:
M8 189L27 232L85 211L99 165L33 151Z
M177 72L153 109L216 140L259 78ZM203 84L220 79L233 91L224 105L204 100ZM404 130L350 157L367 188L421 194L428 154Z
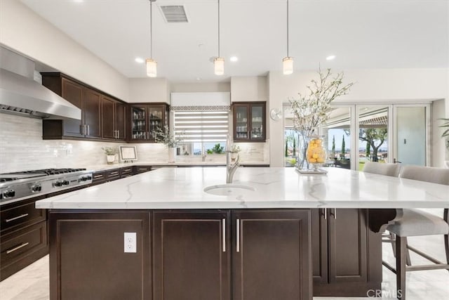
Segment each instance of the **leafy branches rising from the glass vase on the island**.
M327 72L318 70L319 80L311 80L312 85L307 86L309 94L303 96L298 93L299 98L290 100L294 115L295 129L301 131L305 136L316 134L320 125L324 124L329 116L330 103L337 97L346 95L354 85L353 82L342 86L343 73L332 77L330 69Z

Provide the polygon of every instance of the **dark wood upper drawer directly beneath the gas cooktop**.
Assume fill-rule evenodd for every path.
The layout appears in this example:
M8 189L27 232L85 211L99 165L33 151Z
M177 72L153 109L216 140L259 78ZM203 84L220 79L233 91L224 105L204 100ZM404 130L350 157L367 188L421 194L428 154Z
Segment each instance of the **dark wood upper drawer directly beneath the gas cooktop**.
M28 226L46 220L46 209L34 208L36 200L43 197L34 197L0 207L1 234L6 231L18 228L18 226Z

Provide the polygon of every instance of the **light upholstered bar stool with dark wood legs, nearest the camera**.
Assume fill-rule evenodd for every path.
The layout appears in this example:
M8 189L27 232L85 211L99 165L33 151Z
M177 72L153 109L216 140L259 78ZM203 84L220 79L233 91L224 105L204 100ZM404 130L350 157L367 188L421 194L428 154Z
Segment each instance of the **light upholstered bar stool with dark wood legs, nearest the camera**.
M427 181L449 185L449 169L421 166L403 166L401 178L408 178L417 181ZM406 299L406 272L414 270L449 270L449 224L448 208L444 209L443 218L434 214L429 214L420 209L397 209L400 219L387 226L390 233L396 235L396 268L393 268L386 261L382 264L389 270L396 273L396 296L398 299ZM438 261L433 257L421 252L407 244L407 237L422 235L444 235L446 263ZM408 250L424 257L432 262L428 265L406 266L406 256Z

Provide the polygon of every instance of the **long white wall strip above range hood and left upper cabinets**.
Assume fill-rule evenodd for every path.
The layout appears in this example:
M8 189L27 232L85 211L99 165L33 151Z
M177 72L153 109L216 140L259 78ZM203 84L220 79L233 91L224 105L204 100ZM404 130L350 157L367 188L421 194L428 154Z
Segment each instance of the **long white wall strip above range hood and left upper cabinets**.
M1 0L0 44L128 100L126 77L18 0Z

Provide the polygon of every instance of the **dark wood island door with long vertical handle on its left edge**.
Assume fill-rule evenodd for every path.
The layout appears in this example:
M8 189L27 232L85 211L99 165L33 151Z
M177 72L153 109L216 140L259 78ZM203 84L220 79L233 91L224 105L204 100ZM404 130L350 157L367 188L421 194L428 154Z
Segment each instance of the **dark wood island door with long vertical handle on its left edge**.
M233 211L233 300L312 299L309 220L309 209Z

